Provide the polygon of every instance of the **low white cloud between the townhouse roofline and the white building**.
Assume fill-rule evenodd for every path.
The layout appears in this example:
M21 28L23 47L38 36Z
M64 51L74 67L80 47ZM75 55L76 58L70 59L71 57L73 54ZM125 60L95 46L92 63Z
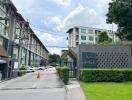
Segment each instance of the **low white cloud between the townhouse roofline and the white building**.
M66 40L64 36L52 35L50 33L43 33L37 30L35 30L34 32L42 41L42 43L47 46L51 54L53 53L59 54L59 55L61 54L61 50L63 49L63 47L65 47L65 46L61 47L61 45L62 44L66 45ZM60 46L61 48L54 47L54 46Z

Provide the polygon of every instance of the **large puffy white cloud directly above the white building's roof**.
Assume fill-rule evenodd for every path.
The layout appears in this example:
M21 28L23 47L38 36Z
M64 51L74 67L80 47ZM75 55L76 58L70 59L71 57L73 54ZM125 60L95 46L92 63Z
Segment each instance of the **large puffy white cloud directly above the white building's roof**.
M72 26L89 26L95 27L100 24L101 18L94 9L89 9L79 5L69 13L63 20L63 27L69 28Z

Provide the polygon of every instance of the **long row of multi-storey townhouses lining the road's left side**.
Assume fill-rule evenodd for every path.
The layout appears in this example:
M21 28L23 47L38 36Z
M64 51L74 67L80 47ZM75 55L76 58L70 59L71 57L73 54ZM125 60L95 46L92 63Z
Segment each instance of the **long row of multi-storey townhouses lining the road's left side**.
M46 66L49 51L11 0L0 0L0 71L10 78L21 66Z

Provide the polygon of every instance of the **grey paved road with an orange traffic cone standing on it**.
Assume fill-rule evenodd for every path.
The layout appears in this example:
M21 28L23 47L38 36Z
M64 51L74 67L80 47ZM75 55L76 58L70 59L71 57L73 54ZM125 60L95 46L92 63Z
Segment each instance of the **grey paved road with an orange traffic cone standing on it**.
M54 68L0 84L0 100L65 100L66 91Z

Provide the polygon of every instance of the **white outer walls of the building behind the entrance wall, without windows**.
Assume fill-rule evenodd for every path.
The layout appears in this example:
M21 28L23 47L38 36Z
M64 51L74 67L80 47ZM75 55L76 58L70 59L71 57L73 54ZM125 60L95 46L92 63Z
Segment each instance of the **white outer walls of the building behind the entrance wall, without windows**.
M79 29L78 33L76 32L76 29ZM85 32L83 32L83 31ZM105 29L97 29L97 28L90 28L90 27L74 27L73 31L69 33L69 47L76 47L76 43L78 44L96 44L96 38L98 38L98 34L96 34L96 31L106 31L108 33L108 36L113 39L113 34L111 30L105 30ZM79 40L76 40L76 35L79 35ZM83 40L81 36L86 36L86 40ZM93 38L91 40L91 38ZM118 38L114 34L114 42L117 42Z

